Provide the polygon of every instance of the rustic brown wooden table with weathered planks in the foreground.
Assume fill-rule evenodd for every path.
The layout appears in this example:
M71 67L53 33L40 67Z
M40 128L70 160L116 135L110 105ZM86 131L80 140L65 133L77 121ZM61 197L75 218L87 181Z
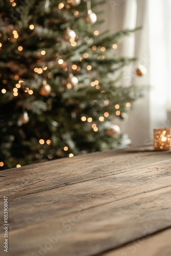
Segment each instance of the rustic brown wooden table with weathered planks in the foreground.
M0 172L0 254L170 256L170 158L134 148Z

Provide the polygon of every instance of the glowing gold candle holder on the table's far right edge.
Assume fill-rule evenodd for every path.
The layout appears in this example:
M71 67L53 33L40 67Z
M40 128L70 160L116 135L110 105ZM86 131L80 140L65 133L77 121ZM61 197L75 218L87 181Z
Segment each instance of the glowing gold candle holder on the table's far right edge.
M156 151L170 150L171 129L154 129L154 148Z

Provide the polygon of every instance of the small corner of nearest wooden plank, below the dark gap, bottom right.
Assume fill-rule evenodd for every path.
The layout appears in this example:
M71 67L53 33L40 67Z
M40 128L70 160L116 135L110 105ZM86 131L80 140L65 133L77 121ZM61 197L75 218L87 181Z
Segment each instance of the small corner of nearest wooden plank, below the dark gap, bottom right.
M171 255L171 229L130 243L111 252L100 253L98 256L169 256Z

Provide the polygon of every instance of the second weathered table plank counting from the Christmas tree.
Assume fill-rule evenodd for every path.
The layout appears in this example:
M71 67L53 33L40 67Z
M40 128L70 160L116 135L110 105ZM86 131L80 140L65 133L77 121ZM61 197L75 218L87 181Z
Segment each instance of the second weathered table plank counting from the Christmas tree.
M133 196L171 186L170 160L132 168L87 182L54 188L40 193L9 199L10 228L59 218L84 209L129 199ZM88 205L87 202L89 202ZM21 207L22 206L22 207ZM3 202L0 202L0 208ZM20 221L22 219L22 222ZM0 231L1 232L1 231Z

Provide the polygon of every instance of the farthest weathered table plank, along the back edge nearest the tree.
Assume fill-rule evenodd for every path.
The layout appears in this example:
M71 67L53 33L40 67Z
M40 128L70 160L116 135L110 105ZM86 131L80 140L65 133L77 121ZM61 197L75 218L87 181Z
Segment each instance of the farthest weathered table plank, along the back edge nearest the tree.
M0 199L3 199L4 195L7 197L22 196L123 173L132 167L166 159L170 159L169 152L109 151L4 170L1 172L5 178L1 178Z

